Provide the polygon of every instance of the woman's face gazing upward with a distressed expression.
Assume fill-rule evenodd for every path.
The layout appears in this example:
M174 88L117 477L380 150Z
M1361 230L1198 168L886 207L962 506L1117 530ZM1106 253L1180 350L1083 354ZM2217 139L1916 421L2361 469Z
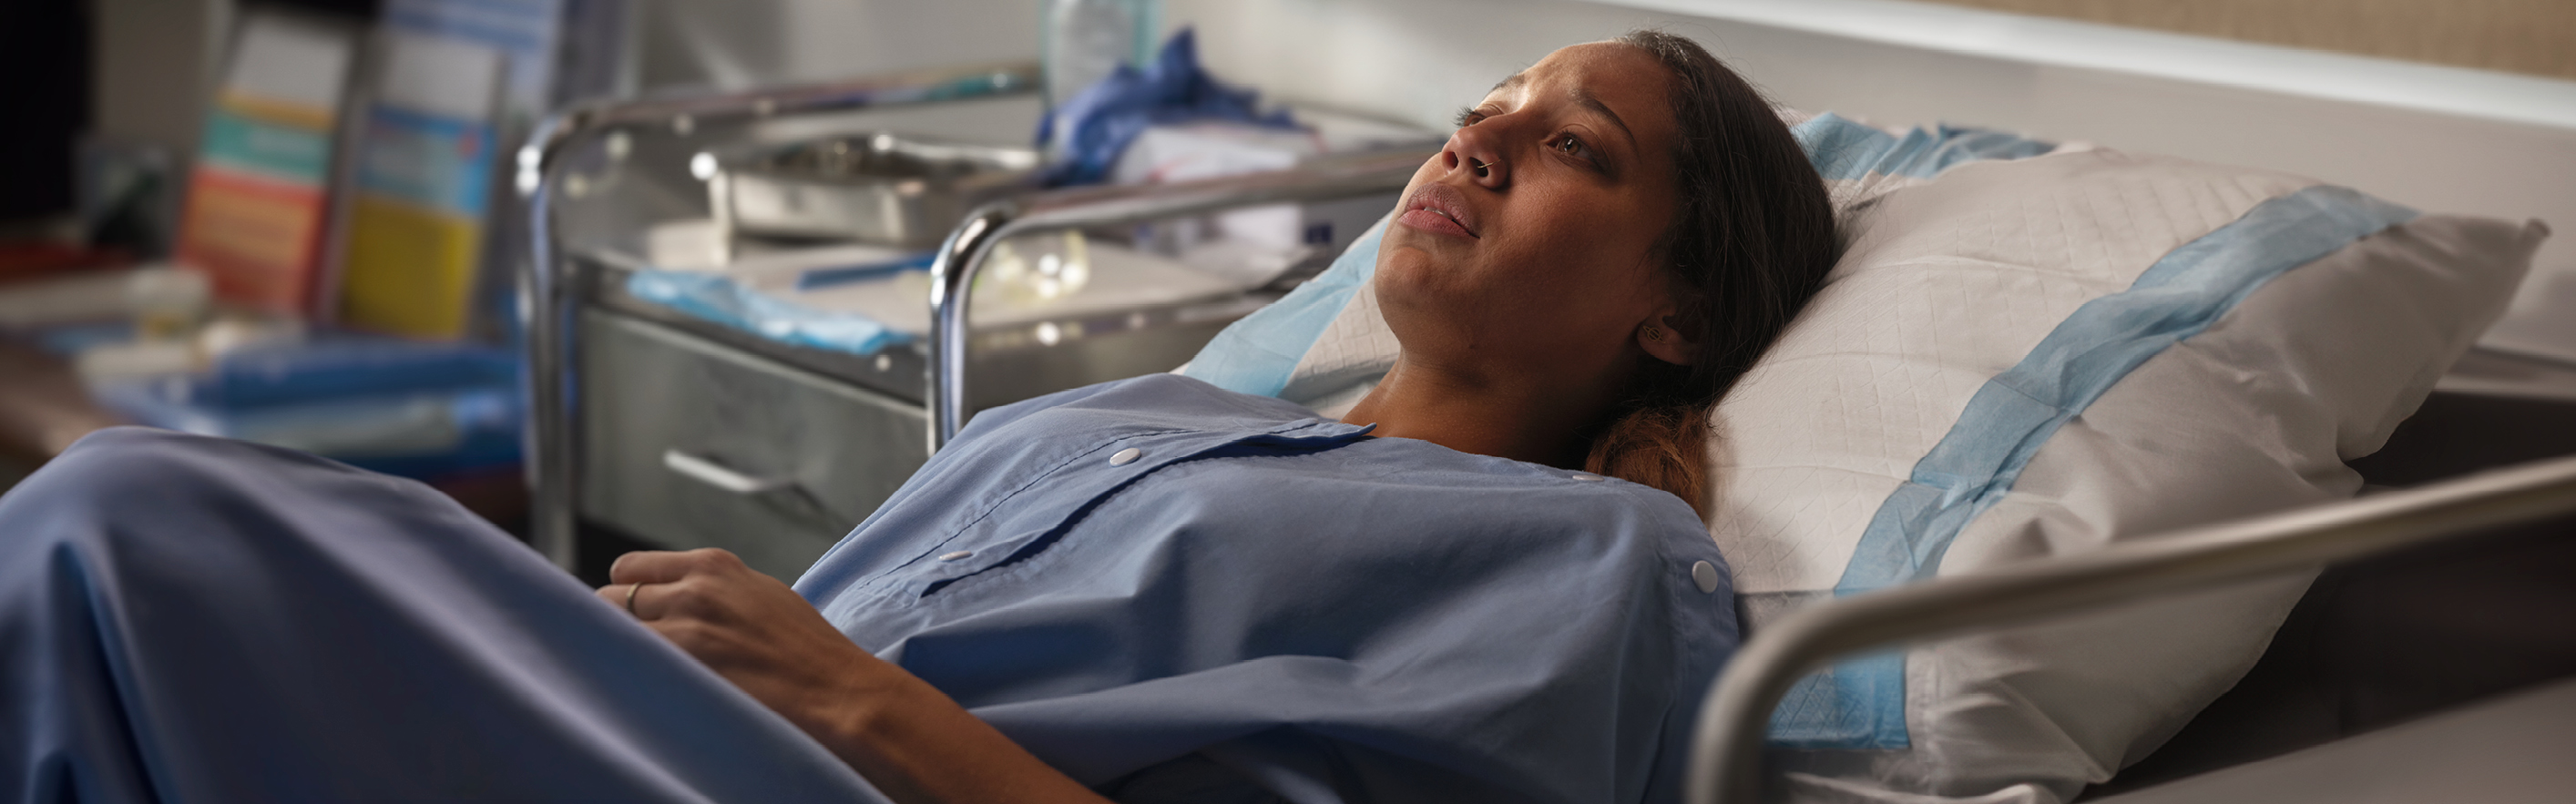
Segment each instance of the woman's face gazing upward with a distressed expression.
M1461 116L1404 188L1376 291L1406 361L1602 387L1669 307L1656 240L1677 214L1672 72L1577 44ZM1669 338L1669 335L1667 335Z

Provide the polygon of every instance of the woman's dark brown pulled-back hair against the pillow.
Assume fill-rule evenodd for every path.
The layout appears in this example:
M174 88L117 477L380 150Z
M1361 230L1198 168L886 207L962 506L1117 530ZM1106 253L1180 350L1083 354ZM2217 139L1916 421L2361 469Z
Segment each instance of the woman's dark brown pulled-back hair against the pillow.
M1788 124L1718 57L1664 31L1618 41L1672 70L1682 206L1656 253L1680 299L1674 325L1700 356L1692 366L1646 358L1584 469L1674 492L1698 510L1708 410L1834 268L1834 206Z

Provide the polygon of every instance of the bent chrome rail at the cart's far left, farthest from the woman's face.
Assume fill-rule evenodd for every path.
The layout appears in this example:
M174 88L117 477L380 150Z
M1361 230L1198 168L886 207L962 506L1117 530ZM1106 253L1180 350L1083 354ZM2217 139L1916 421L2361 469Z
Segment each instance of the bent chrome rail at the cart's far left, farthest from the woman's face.
M574 570L574 505L580 492L580 433L574 428L574 381L580 353L574 307L580 289L562 265L554 229L554 186L549 178L564 157L592 137L621 129L670 129L688 134L701 124L737 124L791 113L858 111L912 103L940 103L1033 93L1038 64L979 64L956 70L899 72L863 80L781 85L747 93L680 93L634 100L592 100L546 116L518 149L513 186L528 204L531 263L520 278L520 322L528 350L528 482L531 533L549 562Z

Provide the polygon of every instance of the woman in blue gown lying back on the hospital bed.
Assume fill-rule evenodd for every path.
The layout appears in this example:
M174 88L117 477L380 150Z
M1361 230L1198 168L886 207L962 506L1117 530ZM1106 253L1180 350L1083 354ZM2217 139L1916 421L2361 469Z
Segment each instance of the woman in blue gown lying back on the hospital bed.
M0 794L1669 801L1736 634L1700 423L1832 253L1770 106L1633 34L1414 175L1345 423L1180 376L989 410L793 590L585 590L420 484L108 430L0 500Z

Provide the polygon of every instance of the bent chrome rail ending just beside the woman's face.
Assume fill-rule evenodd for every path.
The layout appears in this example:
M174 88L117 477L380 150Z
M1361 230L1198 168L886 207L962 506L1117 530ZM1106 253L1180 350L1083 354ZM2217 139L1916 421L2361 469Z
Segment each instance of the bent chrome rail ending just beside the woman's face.
M997 201L966 216L930 263L930 451L966 425L966 314L984 258L1020 235L1141 224L1260 204L1334 201L1401 191L1435 149L1314 160L1291 170L1170 186L1095 188Z

